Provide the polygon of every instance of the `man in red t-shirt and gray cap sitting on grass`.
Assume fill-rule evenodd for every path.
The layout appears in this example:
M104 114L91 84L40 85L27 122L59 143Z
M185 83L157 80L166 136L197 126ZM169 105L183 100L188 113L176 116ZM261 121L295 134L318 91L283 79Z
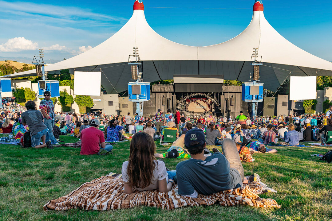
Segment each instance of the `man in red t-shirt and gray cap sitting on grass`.
M113 146L111 144L105 145L104 133L98 130L99 121L92 120L90 126L81 132L81 155L97 154L101 150L111 151Z

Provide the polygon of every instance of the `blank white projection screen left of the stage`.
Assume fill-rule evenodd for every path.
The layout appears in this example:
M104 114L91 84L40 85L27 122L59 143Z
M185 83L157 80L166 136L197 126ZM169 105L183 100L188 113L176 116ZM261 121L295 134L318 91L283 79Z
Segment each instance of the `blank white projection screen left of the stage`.
M100 96L101 72L74 73L74 95Z

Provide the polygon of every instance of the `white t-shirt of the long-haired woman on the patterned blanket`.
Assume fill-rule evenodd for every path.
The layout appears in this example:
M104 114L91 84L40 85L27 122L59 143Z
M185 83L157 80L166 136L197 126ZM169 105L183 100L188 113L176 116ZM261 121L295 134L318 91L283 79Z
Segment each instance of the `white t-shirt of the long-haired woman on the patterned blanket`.
M122 164L122 179L124 182L128 182L129 178L127 176L127 166L128 166L128 161L125 161ZM153 170L153 178L152 182L149 186L145 187L144 189L136 188L138 191L144 191L144 190L159 190L158 187L158 181L163 180L166 178L166 183L168 181L168 175L166 172L166 166L163 161L157 160L156 161L156 166L154 167Z

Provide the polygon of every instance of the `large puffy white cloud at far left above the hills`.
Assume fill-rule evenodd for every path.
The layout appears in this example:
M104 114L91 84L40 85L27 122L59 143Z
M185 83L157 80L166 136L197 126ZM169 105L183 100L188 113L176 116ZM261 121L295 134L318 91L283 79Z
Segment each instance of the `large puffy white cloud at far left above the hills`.
M24 37L14 37L8 39L4 44L0 45L0 51L2 52L17 52L25 50L37 50L38 43L25 39Z

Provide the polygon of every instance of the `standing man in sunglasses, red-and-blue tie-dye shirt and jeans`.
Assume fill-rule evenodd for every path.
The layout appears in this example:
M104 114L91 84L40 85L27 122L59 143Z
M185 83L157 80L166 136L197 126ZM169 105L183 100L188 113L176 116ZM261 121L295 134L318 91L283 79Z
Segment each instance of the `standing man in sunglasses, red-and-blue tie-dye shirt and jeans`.
M51 93L46 90L44 92L44 97L45 98L41 100L39 104L39 109L41 110L41 114L44 116L44 124L48 129L48 133L46 134L46 143L47 141L51 141L51 144L59 145L53 135L55 113L53 101L49 99L51 97Z

